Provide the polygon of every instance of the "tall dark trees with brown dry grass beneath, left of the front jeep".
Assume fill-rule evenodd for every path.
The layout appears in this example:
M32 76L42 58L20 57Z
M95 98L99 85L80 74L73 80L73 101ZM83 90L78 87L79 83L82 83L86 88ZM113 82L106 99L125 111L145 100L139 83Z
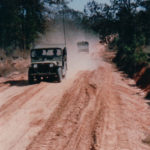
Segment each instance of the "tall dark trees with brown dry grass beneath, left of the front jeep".
M0 76L25 70L26 50L45 31L43 12L40 0L0 1Z

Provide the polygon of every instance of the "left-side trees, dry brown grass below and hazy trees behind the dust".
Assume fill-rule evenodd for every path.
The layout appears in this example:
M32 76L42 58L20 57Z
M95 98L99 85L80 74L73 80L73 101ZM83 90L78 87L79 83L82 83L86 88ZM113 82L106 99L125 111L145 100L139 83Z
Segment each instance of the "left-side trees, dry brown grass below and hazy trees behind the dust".
M64 13L67 24L81 25L83 13L70 9L67 3L66 0L0 1L0 76L26 71L29 50L49 29L62 25Z

